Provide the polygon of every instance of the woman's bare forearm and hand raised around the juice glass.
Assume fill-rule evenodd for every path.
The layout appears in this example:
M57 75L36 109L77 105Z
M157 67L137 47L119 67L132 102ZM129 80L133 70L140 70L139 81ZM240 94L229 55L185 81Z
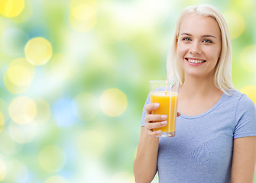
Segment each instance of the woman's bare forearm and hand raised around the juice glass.
M159 122L166 120L167 117L162 118L160 115L151 114L151 111L158 107L159 105L155 104L145 106L145 127L141 127L137 156L134 160L134 177L137 183L151 182L157 172L159 139L156 136L160 134L160 131L153 132L153 129L164 127L167 124Z

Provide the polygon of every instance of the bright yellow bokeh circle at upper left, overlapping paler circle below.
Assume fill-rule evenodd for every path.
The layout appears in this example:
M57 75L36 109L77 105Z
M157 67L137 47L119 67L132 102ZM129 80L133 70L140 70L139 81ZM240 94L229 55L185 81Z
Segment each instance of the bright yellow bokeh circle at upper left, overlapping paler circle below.
M44 37L34 37L29 40L24 49L25 57L34 65L44 65L53 54L50 42Z

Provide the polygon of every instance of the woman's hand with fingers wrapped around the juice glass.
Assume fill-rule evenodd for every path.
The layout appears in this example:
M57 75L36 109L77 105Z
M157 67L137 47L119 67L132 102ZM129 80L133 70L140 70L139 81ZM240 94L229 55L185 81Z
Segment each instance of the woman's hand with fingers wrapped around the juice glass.
M159 108L158 103L147 104L145 106L146 117L145 117L145 127L147 128L147 133L150 136L159 136L161 130L153 131L155 128L164 127L167 125L167 115L152 114L154 109ZM180 113L177 113L177 117L180 116Z

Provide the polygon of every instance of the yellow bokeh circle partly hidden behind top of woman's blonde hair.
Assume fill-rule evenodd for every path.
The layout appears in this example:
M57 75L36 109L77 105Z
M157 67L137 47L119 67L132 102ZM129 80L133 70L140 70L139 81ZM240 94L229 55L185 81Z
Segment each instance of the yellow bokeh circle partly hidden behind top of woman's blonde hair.
M230 37L232 39L239 37L245 30L245 20L235 11L227 11L223 14L228 24Z

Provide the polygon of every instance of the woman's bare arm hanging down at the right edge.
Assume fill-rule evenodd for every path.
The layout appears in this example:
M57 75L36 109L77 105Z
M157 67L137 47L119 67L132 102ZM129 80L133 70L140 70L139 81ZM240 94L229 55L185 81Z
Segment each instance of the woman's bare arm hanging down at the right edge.
M253 183L256 163L256 136L234 140L232 183Z

